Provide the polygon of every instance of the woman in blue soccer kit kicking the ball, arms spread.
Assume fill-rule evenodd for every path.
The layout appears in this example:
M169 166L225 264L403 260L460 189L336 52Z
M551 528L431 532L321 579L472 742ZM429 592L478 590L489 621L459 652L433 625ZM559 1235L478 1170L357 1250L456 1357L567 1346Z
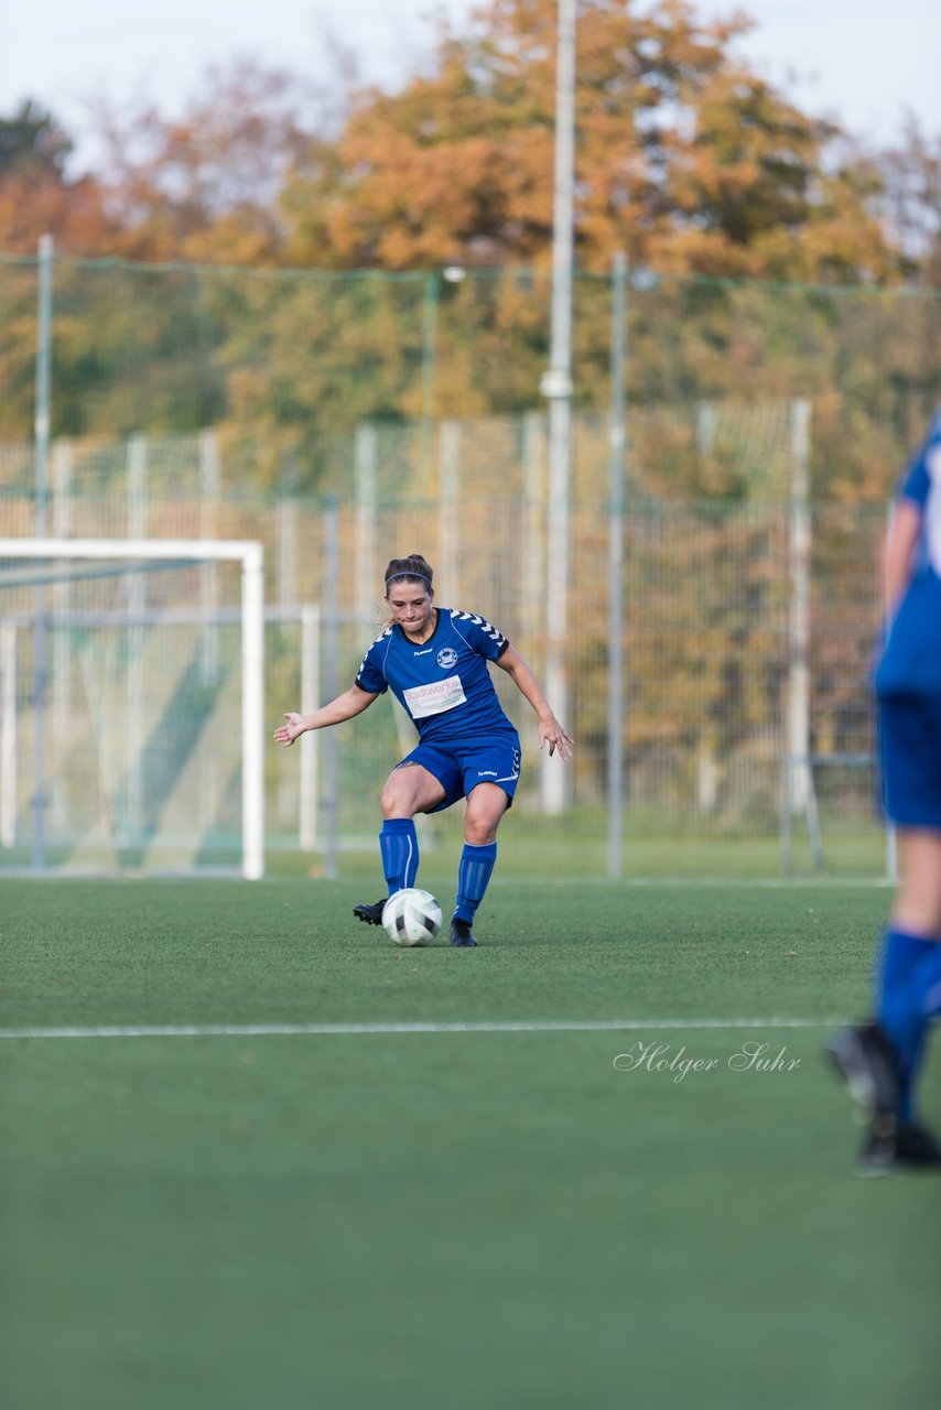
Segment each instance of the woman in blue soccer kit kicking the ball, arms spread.
M467 799L464 850L457 869L451 945L477 945L471 929L497 862L497 829L519 780L519 735L504 715L488 661L506 671L539 716L539 747L570 759L573 742L545 701L536 677L506 637L473 612L435 606L433 572L420 553L385 570L389 625L363 658L356 682L312 715L286 713L275 730L293 744L308 729L339 725L389 687L418 729L418 746L385 781L380 852L388 895L415 885L416 812ZM357 905L368 925L382 924L382 901Z

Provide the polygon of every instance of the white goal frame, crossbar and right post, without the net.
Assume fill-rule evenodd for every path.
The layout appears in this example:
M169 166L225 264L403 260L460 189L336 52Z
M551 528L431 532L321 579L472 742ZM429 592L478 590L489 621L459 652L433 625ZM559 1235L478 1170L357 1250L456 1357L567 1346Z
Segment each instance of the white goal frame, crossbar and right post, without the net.
M0 539L0 587L45 585L85 575L95 563L107 571L126 565L193 568L209 564L241 567L241 874L248 880L264 876L264 550L254 540L219 539ZM14 568L13 564L17 564ZM27 571L27 565L32 570ZM59 575L49 564L65 565ZM83 564L72 567L69 564ZM23 565L23 567L20 567ZM102 570L106 571L106 570ZM45 608L37 608L37 622ZM1 612L0 612L1 615ZM131 620L131 619L128 619ZM44 671L44 663L37 667ZM41 733L37 729L37 736ZM41 781L37 785L41 788Z

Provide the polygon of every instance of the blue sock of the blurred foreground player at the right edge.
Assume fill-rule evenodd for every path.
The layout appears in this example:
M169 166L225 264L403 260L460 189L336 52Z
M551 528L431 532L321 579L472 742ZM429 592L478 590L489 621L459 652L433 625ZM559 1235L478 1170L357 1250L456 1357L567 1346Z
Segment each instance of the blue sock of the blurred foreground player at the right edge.
M904 931L889 931L876 969L876 1018L901 1062L900 1115L906 1122L914 1120L914 1084L925 1029L938 1008L941 943Z

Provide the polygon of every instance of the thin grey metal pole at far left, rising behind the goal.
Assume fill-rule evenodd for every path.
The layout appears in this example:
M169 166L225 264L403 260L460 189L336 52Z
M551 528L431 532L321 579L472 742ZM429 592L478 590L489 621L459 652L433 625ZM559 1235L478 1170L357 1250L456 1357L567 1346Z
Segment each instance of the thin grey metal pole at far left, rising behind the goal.
M35 348L35 536L45 539L49 501L49 437L52 430L52 235L40 235ZM35 589L32 867L45 867L45 587Z

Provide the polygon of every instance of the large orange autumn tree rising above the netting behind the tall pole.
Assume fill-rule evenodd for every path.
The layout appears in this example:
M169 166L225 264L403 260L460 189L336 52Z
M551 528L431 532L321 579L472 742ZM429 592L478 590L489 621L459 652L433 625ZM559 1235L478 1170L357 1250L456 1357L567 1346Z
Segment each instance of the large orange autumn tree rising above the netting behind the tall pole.
M556 0L490 0L444 28L427 75L358 94L313 173L288 180L291 258L403 269L546 262ZM831 171L835 128L732 58L749 28L683 0L583 0L578 262L797 279L885 279L896 259L865 173Z

